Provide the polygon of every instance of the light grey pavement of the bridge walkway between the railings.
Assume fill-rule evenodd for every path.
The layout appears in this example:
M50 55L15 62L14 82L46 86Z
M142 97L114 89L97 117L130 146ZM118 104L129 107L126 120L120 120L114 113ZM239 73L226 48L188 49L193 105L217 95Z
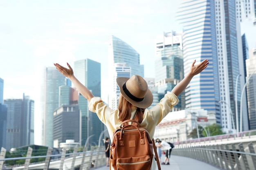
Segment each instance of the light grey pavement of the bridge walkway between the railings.
M161 157L164 160L164 156ZM96 168L97 170L109 170L109 167L103 166ZM158 168L156 168L158 170ZM187 157L180 157L171 155L170 165L161 165L161 170L222 170L218 167L212 166L208 163L191 159Z

